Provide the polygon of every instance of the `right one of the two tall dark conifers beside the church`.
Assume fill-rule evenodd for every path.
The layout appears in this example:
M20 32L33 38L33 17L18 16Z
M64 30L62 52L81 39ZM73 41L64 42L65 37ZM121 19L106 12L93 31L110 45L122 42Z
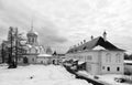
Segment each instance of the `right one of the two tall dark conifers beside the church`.
M20 57L20 54L23 54L24 52L24 49L21 45L21 41L23 41L24 39L22 38L22 34L19 33L18 28L13 28L12 33L9 34L9 40L12 44L10 49L13 53L13 55L12 53L10 54L11 57L9 60L11 61L11 66L9 66L9 68L15 68L18 67L18 57Z

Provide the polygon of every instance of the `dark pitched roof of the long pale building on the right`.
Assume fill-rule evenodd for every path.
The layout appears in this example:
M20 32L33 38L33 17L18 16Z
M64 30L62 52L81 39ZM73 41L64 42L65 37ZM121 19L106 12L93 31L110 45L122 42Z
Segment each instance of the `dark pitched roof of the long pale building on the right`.
M121 49L117 47L116 45L111 44L109 41L105 41L102 36L98 36L96 39L92 39L89 42L86 42L86 43L79 45L79 46L69 49L67 53L73 53L73 52L82 51L82 50L92 50L94 47L96 47L98 45L100 45L109 51L124 51L124 50L121 50Z

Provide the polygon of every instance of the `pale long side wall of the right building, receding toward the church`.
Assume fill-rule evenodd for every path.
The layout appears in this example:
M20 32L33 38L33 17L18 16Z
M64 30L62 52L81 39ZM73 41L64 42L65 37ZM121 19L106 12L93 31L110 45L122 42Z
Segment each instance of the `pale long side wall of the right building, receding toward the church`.
M79 61L87 62L86 71L90 74L99 73L99 51L87 51L87 52L78 52L66 54L67 59L78 59ZM91 70L89 70L91 66Z

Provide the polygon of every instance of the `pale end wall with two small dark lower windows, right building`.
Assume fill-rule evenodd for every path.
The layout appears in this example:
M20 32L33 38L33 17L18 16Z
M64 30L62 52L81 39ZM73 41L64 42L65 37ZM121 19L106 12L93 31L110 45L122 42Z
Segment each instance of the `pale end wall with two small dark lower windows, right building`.
M107 55L111 55L111 61L107 61ZM120 62L117 61L117 54L120 54ZM101 74L123 74L124 66L123 66L123 52L120 51L102 51L101 52ZM108 67L110 67L110 71L108 71ZM117 71L117 67L120 67L120 71Z

